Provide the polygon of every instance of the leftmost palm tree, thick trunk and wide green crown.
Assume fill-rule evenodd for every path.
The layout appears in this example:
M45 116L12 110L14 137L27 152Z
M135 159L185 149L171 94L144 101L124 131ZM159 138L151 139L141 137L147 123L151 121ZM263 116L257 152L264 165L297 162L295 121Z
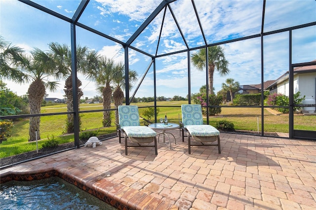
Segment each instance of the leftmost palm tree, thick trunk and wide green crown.
M34 48L30 55L23 54L19 47L10 47L11 44L0 39L1 78L6 78L16 83L31 82L28 89L30 114L40 114L40 105L46 88L55 91L58 83L49 81L48 78L61 78L65 71L55 68L52 54ZM10 49L10 50L9 50ZM2 74L3 73L3 74ZM40 117L30 117L29 141L40 139Z

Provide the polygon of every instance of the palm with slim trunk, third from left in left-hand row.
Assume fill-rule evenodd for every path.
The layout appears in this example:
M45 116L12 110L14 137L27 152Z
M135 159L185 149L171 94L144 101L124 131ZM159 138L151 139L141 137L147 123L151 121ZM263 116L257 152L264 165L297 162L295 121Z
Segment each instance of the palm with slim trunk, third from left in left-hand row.
M97 91L102 94L103 109L111 108L112 81L114 76L115 63L113 59L107 59L105 56L99 58L98 68L88 72L87 77L96 81ZM102 125L111 126L111 111L103 111Z

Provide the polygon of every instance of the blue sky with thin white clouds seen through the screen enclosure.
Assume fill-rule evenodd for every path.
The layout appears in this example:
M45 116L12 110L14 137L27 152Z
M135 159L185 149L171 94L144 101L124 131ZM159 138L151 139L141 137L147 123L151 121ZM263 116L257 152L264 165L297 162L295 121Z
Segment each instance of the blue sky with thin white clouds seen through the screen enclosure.
M79 0L34 0L55 12L71 18ZM90 0L79 19L88 27L127 41L138 27L155 10L160 0ZM261 30L262 0L195 0L198 16L207 43L215 43L248 35L256 35ZM198 27L192 2L177 0L170 3L174 15L189 47L204 45ZM131 44L149 54L155 55L163 17L162 10L154 21ZM264 32L297 26L316 21L315 0L267 0ZM48 49L48 43L59 42L70 45L70 24L34 9L16 0L0 0L0 34L13 45L30 52L34 47ZM122 46L111 40L77 29L77 42L82 46L97 50L100 55L123 61ZM288 32L264 36L264 80L273 80L288 70ZM309 62L316 59L316 26L294 30L292 42L293 63ZM220 77L214 74L215 92L227 78L234 78L241 85L261 83L260 37L224 44L226 59L231 73ZM166 10L158 55L186 49L185 42L172 18ZM151 59L137 51L129 50L129 68L136 70L139 79L150 64ZM187 53L165 56L156 60L157 96L186 97L188 94ZM192 93L197 93L205 84L205 71L198 71L191 65ZM83 97L100 95L95 84L79 75L82 81ZM18 95L27 92L29 84L16 85L5 81L8 88ZM60 81L57 92L48 97L63 98L64 81ZM134 84L134 89L139 81ZM154 96L153 67L150 68L136 97Z

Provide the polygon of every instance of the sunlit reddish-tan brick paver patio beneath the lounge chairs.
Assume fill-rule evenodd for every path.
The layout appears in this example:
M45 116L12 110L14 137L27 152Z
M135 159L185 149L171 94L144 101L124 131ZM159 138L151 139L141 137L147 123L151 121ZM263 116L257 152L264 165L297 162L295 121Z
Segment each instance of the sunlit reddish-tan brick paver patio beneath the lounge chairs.
M316 141L221 133L217 146L192 147L173 131L173 150L129 148L118 137L0 172L58 171L129 209L315 210ZM118 207L118 205L116 205Z

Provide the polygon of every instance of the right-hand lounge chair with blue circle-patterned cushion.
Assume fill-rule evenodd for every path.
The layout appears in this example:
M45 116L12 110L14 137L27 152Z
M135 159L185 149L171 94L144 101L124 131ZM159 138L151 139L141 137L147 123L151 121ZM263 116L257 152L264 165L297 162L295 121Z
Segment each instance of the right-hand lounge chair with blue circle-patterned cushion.
M201 105L181 105L182 111L182 141L184 141L184 132L188 136L189 154L191 146L218 146L218 153L221 153L220 132L211 125L203 125L203 115ZM191 137L200 144L191 144ZM217 144L205 144L213 142Z

